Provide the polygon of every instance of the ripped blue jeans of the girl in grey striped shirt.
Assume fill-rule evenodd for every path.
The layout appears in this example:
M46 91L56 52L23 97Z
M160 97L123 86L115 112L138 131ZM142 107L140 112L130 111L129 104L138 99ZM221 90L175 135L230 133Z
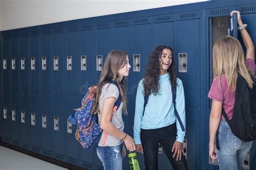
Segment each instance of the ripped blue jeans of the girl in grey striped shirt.
M98 146L96 148L100 161L103 162L104 170L122 169L122 146Z

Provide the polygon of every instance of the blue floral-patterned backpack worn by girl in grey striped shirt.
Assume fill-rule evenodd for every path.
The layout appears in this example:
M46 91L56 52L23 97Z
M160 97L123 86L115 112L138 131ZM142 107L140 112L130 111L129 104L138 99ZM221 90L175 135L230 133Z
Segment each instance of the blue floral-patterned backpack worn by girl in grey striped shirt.
M110 83L117 86L114 81ZM100 129L100 125L98 123L98 114L92 113L92 106L95 102L96 91L97 86L90 87L83 97L82 107L78 108L75 114L69 116L69 122L71 124L77 124L75 137L86 150L95 150L97 148L103 131ZM116 112L121 102L122 98L119 91L119 96L117 101L114 103L112 114ZM107 133L104 133L103 145L105 144L106 136Z

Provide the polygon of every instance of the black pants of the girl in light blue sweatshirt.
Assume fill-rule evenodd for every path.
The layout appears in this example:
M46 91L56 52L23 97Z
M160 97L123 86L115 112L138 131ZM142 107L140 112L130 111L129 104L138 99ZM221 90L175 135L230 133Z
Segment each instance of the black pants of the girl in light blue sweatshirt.
M146 169L158 169L158 147L159 143L164 148L165 154L169 159L173 169L187 169L187 163L184 155L181 160L176 161L177 157L172 158L172 146L176 141L177 128L176 123L159 129L142 129L140 138L144 150L144 159Z

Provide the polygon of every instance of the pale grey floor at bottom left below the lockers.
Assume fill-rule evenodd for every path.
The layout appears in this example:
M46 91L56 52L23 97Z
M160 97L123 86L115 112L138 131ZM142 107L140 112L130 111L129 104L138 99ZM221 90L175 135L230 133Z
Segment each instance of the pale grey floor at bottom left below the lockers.
M0 146L1 170L55 170L65 169L43 160Z

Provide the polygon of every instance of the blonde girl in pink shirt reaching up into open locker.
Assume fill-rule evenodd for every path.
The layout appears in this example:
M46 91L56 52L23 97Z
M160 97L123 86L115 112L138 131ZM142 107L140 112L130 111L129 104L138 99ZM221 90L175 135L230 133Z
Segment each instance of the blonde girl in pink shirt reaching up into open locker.
M215 77L208 94L208 97L212 99L209 154L212 159L218 158L220 169L225 170L241 169L245 156L253 143L253 141L242 141L234 136L225 118L221 116L222 109L229 119L233 116L238 73L244 77L250 88L253 86L250 72L255 74L254 45L245 29L246 25L242 23L240 12L232 11L230 15L233 16L235 12L238 15L239 30L246 47L246 58L237 39L230 36L218 39L213 46L213 75ZM217 131L220 150L215 150Z

